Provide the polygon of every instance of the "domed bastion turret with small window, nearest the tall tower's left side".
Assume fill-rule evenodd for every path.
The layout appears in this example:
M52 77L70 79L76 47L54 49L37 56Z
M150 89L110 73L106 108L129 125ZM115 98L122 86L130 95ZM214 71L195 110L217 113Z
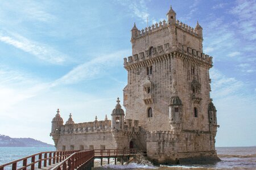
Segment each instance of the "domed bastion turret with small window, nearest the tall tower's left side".
M111 121L111 128L112 130L123 130L123 125L125 121L125 112L121 109L121 105L119 104L120 100L117 97L117 105L112 111L112 121Z

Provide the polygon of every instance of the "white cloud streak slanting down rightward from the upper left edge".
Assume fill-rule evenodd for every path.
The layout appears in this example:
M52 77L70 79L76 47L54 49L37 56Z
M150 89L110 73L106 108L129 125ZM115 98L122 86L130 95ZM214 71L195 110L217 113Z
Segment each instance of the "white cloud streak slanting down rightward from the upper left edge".
M15 48L30 53L33 56L49 63L61 64L64 63L68 58L65 54L51 48L46 44L29 40L26 37L16 33L0 31L0 41L13 45Z

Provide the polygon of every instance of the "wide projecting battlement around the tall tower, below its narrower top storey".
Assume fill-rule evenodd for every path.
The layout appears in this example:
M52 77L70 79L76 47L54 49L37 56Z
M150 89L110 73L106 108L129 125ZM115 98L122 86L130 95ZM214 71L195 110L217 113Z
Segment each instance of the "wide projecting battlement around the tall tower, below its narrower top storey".
M149 52L151 50L151 52ZM183 57L186 57L188 59L196 59L199 62L206 63L210 67L212 67L212 57L204 54L200 51L197 51L195 49L190 48L189 46L178 44L177 46L170 47L169 43L152 47L152 49L145 50L144 52L140 52L138 54L134 54L133 56L129 56L127 58L124 58L124 67L127 69L130 66L133 66L137 63L146 62L146 65L148 65L150 60L163 58L164 56L167 57L173 52L179 53L181 56L183 54Z

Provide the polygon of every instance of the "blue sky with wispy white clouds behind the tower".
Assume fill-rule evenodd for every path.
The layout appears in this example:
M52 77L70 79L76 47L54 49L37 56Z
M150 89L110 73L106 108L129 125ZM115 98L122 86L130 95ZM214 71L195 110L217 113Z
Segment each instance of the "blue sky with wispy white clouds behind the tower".
M213 56L210 96L220 125L216 146L256 145L256 1L12 1L0 5L0 134L53 144L64 122L110 118L123 99L131 28L166 19L203 27Z

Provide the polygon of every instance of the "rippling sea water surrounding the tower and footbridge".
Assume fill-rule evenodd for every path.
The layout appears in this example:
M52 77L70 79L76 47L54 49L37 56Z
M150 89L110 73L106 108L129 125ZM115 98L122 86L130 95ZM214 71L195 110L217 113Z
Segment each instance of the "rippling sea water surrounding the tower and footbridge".
M54 151L54 147L0 147L0 165L20 159L43 151ZM114 165L114 160L110 160L110 165L100 167L100 160L95 160L97 169L256 169L256 147L216 147L217 155L221 162L215 164L185 164L185 165L141 165L127 164Z

